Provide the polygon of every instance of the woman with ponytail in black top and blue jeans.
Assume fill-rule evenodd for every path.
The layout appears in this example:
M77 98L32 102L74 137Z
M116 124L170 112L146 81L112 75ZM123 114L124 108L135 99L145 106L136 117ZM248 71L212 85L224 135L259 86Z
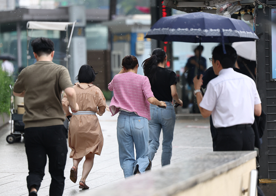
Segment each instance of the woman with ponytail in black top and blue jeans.
M172 105L172 99L182 106L182 100L178 98L176 91L177 76L175 72L166 69L167 54L163 49L154 49L150 58L143 63L144 74L150 80L154 96L158 100L165 101L167 107L159 108L151 104L151 120L149 121L150 139L149 155L153 160L159 147L159 137L162 129L162 156L161 165L170 164L172 154L172 140L175 124L175 111Z

